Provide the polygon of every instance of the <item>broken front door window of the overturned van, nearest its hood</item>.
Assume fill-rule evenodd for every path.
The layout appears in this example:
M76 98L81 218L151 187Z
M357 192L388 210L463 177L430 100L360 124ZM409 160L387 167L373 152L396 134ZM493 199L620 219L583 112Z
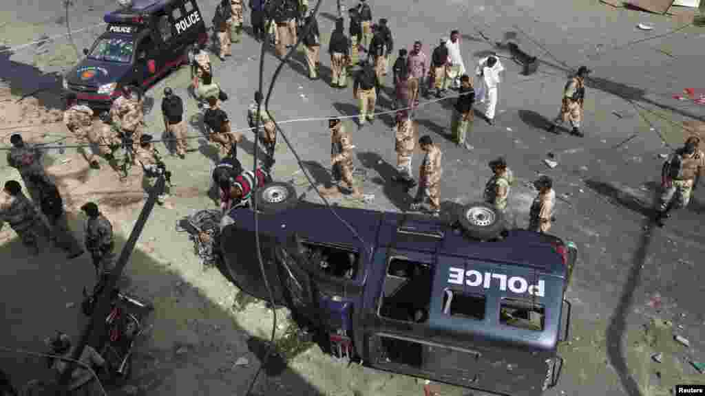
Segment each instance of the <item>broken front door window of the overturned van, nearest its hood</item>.
M302 242L305 256L317 270L331 278L353 279L357 275L360 254L339 247Z

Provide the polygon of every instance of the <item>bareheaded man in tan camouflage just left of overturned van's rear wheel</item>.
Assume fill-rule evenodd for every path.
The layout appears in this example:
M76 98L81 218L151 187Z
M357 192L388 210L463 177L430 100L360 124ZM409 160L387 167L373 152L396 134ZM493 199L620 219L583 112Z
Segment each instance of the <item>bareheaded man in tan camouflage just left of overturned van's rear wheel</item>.
M421 205L426 199L431 202L431 214L435 217L441 214L441 197L439 195L439 187L441 184L441 149L437 147L429 135L424 135L419 139L419 146L426 153L424 161L419 167L419 188L416 192L414 203L411 204L411 210L417 211L421 209Z

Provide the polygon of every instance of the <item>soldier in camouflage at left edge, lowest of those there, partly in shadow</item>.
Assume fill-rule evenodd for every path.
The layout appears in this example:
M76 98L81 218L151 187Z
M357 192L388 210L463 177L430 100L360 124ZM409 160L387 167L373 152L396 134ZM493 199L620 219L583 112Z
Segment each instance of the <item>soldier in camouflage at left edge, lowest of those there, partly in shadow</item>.
M20 237L33 256L39 255L39 237L49 237L49 229L39 216L37 209L22 193L22 186L16 180L5 182L3 192L6 199L0 204L0 229L7 222Z

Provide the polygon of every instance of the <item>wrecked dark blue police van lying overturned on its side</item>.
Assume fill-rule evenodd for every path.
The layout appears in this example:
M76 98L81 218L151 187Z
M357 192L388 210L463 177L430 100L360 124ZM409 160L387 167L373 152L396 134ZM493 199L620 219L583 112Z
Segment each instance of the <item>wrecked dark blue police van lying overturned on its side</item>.
M257 190L255 199L275 303L326 340L321 349L504 395L541 395L556 385L558 342L570 327L572 242L506 230L502 214L482 203L463 206L448 222L365 209L333 214L298 202L283 182ZM269 299L254 220L251 208L224 216L221 249L238 287Z

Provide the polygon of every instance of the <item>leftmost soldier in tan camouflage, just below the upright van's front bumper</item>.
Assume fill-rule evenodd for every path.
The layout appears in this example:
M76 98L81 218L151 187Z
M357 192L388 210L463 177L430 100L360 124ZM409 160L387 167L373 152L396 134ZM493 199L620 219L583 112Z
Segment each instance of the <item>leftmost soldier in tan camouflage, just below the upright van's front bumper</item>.
M78 104L78 97L73 92L66 95L66 111L63 112L63 123L73 133L78 144L85 144L83 150L85 158L92 168L100 168L98 158L93 152L92 145L101 142L93 133L93 111L90 107ZM101 147L100 154L110 154L108 147Z

